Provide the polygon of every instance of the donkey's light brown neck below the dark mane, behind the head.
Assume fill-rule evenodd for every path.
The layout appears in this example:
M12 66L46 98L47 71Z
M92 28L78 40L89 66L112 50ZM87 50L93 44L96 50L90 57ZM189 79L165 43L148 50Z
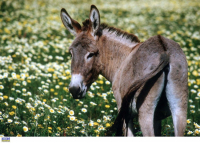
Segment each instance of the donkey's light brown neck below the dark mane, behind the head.
M120 66L138 43L138 41L131 41L123 35L117 35L116 32L104 29L98 42L102 65L101 74L113 82Z

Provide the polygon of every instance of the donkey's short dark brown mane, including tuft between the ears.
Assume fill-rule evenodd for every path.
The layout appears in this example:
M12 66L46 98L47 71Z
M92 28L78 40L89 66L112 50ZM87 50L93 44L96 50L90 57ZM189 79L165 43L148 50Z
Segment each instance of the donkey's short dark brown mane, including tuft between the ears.
M91 25L90 20L86 19L83 22L82 30L83 31L89 30L90 25ZM108 30L108 32L115 33L116 36L125 38L127 40L130 40L131 42L138 42L138 43L140 42L140 40L138 39L138 37L136 35L128 33L128 32L125 32L125 31L122 31L122 30L120 30L118 28L115 28L115 27L108 26L105 23L102 23L100 25L98 31L96 32L96 35L100 37L103 34L103 30Z

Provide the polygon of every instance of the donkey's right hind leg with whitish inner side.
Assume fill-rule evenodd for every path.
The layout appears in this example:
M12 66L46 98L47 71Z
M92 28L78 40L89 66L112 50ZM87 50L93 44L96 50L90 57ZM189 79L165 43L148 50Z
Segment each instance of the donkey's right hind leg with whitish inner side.
M187 70L181 70L180 67L181 65L170 65L166 85L166 96L172 113L175 136L183 136L187 124Z

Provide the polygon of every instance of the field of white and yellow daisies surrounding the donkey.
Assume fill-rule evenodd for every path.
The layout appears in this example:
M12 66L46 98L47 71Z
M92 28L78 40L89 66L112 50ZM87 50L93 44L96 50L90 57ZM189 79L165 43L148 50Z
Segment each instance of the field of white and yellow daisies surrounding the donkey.
M1 0L0 136L106 136L117 115L111 83L99 76L83 99L68 91L74 37L60 10L79 23L90 5L101 22L136 34L160 34L180 44L188 61L185 136L200 136L200 3L198 0ZM137 119L136 136L142 136ZM173 136L171 117L162 136Z

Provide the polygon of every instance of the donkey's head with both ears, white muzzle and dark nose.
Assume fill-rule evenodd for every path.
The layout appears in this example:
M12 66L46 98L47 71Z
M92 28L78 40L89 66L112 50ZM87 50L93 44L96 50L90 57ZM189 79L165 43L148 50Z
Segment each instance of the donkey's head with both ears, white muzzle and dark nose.
M99 53L96 46L96 33L100 26L99 11L92 5L89 19L83 22L82 27L69 16L64 8L61 9L60 15L64 26L75 36L69 47L72 56L69 91L73 98L83 98L100 72Z

